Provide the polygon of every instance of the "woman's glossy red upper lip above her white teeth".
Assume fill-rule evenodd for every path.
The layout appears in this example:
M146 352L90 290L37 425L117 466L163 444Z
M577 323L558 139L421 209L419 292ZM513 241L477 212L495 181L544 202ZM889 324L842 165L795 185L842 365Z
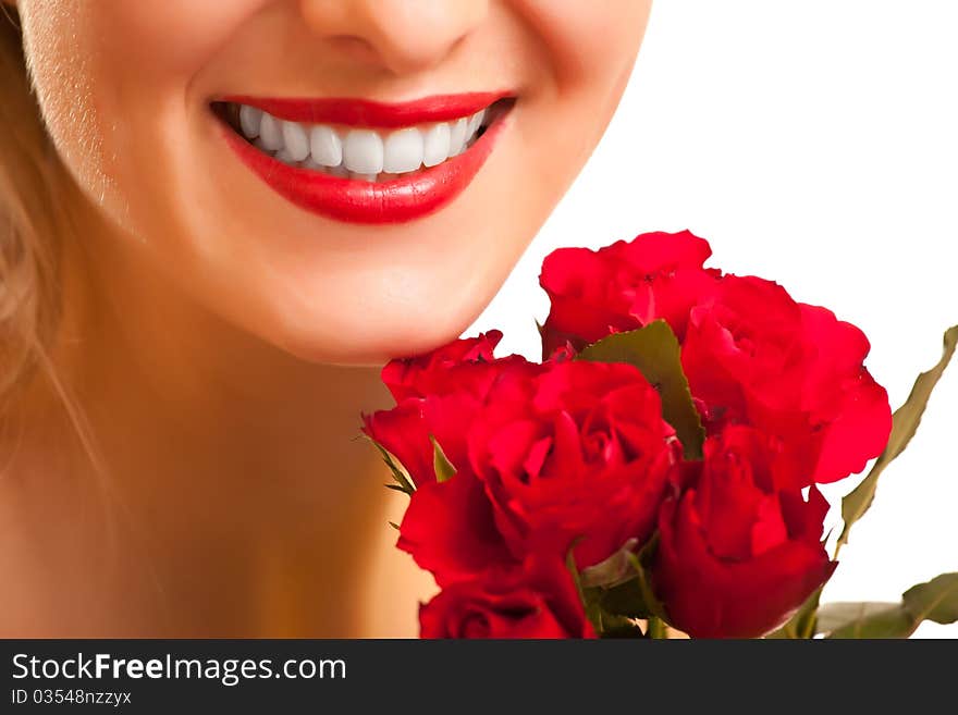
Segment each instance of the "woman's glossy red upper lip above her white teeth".
M474 91L433 95L405 102L381 102L349 97L307 99L231 95L220 101L256 107L288 122L390 128L468 116L512 96L508 91Z

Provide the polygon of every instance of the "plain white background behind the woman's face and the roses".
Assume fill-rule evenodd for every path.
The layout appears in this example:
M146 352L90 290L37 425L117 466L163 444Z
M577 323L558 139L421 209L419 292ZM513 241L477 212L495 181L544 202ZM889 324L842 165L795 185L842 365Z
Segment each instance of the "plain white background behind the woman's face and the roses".
M548 252L689 229L711 242L711 266L862 328L897 407L958 323L956 36L954 0L658 0L605 138L468 334L500 328L500 354L538 358ZM825 601L897 601L958 570L956 446L958 363ZM858 479L828 489L832 504Z

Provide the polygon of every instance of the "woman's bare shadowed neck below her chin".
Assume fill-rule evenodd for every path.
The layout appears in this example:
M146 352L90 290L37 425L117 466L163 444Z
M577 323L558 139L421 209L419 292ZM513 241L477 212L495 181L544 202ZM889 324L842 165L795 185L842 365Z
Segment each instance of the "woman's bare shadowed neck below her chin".
M175 291L134 238L78 225L54 359L90 442L57 466L75 476L58 518L70 558L111 554L87 579L90 601L122 595L105 628L370 630L377 583L406 568L386 525L402 504L358 429L389 403L379 368L302 361ZM81 525L71 505L95 502L108 518Z

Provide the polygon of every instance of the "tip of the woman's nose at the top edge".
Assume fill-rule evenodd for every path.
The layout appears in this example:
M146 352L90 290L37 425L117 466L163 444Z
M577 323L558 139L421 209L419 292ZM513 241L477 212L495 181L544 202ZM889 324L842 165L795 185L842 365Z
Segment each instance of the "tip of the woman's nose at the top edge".
M486 19L488 0L302 0L310 29L395 75L429 70Z

